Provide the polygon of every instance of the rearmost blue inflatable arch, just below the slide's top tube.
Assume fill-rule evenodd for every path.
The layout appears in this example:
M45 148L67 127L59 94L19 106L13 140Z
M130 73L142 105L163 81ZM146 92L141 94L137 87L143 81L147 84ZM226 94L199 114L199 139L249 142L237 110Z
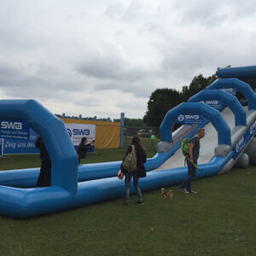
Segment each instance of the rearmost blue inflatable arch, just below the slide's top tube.
M236 88L243 96L247 98L248 109L256 109L256 95L247 83L242 82L239 79L218 79L211 85L207 86L207 90L212 89L225 89L225 88Z

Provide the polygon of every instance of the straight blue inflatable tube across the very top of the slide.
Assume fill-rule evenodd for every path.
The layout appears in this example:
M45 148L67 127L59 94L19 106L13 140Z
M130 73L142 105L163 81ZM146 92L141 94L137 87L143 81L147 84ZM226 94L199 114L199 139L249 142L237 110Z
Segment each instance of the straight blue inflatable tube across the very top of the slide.
M219 69L216 74L222 79L256 79L256 66L226 67Z

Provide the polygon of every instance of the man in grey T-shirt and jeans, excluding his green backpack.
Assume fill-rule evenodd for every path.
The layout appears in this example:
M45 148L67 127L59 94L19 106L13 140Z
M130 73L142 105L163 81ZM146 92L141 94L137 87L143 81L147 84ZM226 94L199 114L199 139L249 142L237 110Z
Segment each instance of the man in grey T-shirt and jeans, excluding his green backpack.
M196 194L196 192L191 189L191 181L196 176L195 166L197 166L197 160L200 152L200 140L202 137L205 137L205 135L206 135L205 129L200 128L197 131L197 135L190 140L189 158L187 159L189 174L188 174L188 177L184 179L183 183L181 183L178 187L185 194L189 194L189 193Z

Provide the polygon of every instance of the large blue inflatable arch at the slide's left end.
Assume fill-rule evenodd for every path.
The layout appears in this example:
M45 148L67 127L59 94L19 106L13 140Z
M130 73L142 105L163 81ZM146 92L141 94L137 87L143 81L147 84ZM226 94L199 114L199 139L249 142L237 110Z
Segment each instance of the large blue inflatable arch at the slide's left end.
M52 162L51 185L77 194L78 155L61 119L34 100L0 101L0 119L27 121L43 137L48 150Z

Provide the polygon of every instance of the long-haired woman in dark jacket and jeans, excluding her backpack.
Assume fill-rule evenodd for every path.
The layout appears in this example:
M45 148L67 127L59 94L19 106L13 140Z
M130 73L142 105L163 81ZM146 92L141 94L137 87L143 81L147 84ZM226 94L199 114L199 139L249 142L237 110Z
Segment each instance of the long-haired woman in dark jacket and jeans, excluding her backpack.
M140 177L146 177L146 170L143 163L147 160L147 154L145 148L143 148L143 144L139 137L132 137L131 145L135 146L135 151L137 155L137 170L135 172L126 172L125 169L121 166L121 172L125 175L125 206L128 205L129 196L130 196L130 186L131 186L131 177L133 177L133 185L137 192L137 204L143 204L143 196L141 189L139 188L138 181ZM131 146L127 148L127 154L131 153ZM125 158L124 158L125 160Z

